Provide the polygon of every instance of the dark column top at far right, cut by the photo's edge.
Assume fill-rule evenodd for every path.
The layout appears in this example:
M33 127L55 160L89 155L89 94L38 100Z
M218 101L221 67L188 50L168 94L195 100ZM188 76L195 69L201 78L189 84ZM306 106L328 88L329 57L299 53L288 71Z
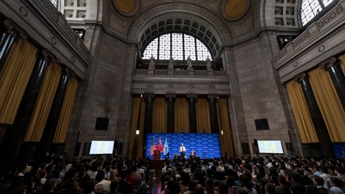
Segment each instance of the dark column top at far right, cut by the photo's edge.
M326 69L329 75L331 75L341 105L343 106L343 109L345 109L345 76L339 64L339 60L337 60L335 57L332 57L328 59L326 63L321 64L320 68Z

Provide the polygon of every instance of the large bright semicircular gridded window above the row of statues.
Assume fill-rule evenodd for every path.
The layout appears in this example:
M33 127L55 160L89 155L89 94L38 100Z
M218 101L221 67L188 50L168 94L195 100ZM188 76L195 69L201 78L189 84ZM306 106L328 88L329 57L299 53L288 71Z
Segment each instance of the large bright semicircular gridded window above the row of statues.
M143 53L143 59L150 59L151 56L159 60L187 60L188 56L192 61L212 60L209 49L197 38L183 33L168 33L152 40Z

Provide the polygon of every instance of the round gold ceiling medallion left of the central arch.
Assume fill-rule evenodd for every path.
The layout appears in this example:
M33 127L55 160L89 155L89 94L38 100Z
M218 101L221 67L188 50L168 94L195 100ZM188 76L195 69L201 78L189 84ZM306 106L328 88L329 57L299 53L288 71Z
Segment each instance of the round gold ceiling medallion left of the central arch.
M138 0L113 0L113 4L123 16L131 17L138 11Z

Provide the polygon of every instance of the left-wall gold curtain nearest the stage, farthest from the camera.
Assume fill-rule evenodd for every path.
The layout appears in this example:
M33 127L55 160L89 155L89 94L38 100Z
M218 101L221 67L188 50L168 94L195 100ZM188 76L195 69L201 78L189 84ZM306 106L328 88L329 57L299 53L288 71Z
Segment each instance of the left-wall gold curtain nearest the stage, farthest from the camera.
M54 143L64 143L66 139L68 123L71 119L73 103L75 98L75 92L77 91L78 80L76 78L70 78L66 89L66 95L63 99L61 113L59 117L59 123L56 127L54 135Z

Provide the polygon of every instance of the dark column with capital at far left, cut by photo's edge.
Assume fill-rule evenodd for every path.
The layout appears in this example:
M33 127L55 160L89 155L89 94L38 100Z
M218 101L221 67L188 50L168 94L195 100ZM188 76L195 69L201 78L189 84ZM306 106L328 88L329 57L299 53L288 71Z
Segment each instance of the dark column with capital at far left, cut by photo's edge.
M8 31L1 35L0 40L0 73L2 68L4 68L7 56L11 51L11 47L17 35L20 34L20 38L23 40L27 38L26 33L20 30L12 20L4 20L4 25Z

